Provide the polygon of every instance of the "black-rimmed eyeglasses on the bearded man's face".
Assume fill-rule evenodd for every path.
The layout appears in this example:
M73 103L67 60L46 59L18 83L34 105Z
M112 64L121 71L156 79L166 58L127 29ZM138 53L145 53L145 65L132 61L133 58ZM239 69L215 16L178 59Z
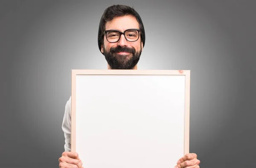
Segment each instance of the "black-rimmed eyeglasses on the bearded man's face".
M105 35L107 41L110 43L119 41L121 35L124 35L127 41L134 42L140 37L140 29L127 29L124 32L120 32L119 30L105 30Z

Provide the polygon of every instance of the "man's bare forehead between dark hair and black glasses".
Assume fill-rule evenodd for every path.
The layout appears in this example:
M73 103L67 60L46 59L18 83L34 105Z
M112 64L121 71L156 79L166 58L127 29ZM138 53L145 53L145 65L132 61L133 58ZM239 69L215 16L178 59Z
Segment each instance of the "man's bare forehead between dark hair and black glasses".
M106 30L117 29L121 32L126 29L139 29L140 25L134 16L120 16L108 21L105 25Z

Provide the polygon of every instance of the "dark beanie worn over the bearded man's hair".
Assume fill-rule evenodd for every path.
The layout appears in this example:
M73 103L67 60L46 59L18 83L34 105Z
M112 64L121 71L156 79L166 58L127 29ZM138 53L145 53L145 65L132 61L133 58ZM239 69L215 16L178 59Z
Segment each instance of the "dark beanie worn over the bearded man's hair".
M106 12L107 12L107 10L109 8L111 8L111 7L119 7L119 6L123 6L123 5L113 5L113 6L108 7L105 10L105 12L103 13L103 15L102 15L102 18L101 18L100 23L99 23L99 30L98 30L98 46L99 46L99 51L100 52L101 52L101 46L102 46L102 43L101 43L102 40L101 39L104 37L102 32L101 32L101 26L102 26L102 23L104 23L104 26L105 26L105 23L106 23L106 20L105 20L106 16L105 16L105 14L106 14ZM126 7L128 7L128 6L126 6ZM133 9L133 13L131 13L131 15L134 15L136 17L136 19L138 20L138 22L139 22L139 24L141 26L140 27L140 32L141 32L140 38L142 40L143 47L144 47L145 46L145 29L144 29L144 25L143 25L142 19L141 19L140 15L138 14L138 12L135 11L135 9ZM118 17L118 16L115 16L115 17Z

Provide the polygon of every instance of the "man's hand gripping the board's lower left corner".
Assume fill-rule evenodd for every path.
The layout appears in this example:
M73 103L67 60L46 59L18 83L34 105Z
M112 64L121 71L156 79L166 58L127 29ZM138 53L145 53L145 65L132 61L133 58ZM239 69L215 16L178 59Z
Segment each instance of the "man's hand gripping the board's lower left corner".
M76 152L63 152L59 158L60 168L83 168L82 164Z

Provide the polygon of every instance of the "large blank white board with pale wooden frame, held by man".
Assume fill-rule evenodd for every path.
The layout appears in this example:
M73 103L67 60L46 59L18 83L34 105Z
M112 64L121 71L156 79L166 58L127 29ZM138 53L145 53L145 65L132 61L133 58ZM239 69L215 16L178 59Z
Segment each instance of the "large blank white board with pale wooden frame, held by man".
M72 142L84 168L172 168L189 153L190 71L73 70Z

